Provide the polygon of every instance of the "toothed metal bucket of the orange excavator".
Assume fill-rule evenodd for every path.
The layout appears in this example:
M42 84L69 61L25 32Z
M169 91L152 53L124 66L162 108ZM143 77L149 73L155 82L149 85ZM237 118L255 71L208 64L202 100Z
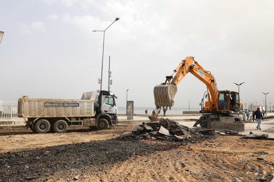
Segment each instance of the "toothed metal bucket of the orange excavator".
M156 108L174 106L174 96L177 93L177 86L171 84L156 85L154 87L154 100Z

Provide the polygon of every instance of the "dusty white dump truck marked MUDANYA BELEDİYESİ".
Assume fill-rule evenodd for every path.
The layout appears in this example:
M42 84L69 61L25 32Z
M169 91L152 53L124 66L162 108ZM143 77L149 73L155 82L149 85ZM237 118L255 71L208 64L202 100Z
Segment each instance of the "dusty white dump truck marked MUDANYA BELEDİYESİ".
M37 133L65 133L68 127L89 126L98 130L117 124L117 96L105 90L83 93L81 99L18 99L19 117L26 129Z

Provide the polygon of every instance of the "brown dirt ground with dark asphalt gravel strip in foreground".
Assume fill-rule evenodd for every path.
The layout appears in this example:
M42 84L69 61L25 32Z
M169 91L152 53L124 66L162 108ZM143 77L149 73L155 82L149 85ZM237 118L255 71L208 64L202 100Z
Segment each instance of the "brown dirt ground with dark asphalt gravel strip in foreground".
M134 126L36 134L0 128L2 181L271 181L274 141L205 136L168 142L124 140ZM209 142L213 140L213 142ZM25 169L27 166L27 169Z

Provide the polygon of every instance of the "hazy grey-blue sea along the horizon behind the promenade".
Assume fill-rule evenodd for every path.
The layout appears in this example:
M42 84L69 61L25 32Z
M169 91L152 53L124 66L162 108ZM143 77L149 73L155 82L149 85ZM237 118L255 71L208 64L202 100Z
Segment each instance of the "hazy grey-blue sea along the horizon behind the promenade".
M126 107L117 107L117 109L118 109L119 114L126 113ZM149 114L152 114L152 111L155 109L155 107L134 107L134 113L135 114L144 114L146 109ZM189 110L199 111L199 110L201 110L201 108L189 108ZM168 109L166 113L167 114L182 114L183 111L188 111L188 107L187 108L171 107L171 110ZM161 110L161 113L163 113L162 110Z

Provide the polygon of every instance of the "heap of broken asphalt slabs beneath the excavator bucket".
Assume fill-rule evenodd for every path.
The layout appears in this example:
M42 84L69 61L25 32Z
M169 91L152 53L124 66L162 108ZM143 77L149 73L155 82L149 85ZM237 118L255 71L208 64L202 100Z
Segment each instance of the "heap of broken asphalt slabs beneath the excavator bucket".
M191 130L187 126L178 124L170 119L160 118L158 121L150 121L136 126L131 132L125 132L120 135L121 138L136 138L136 139L159 139L184 141L191 135L199 133Z

